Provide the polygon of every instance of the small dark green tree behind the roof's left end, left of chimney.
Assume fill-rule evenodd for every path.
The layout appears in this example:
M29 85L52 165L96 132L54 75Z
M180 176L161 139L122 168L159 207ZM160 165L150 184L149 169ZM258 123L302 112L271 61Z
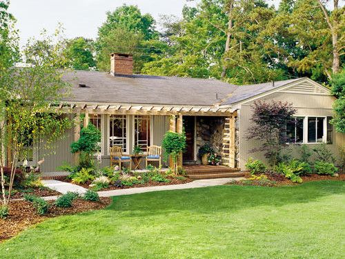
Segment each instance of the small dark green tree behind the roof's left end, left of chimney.
M68 59L67 65L73 69L89 70L96 66L92 55L92 52L94 52L92 39L83 37L70 39L64 51Z

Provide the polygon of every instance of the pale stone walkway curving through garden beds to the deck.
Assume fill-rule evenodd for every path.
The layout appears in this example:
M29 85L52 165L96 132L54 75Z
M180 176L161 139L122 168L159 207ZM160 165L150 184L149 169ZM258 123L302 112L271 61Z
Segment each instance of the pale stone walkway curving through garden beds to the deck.
M150 191L168 191L168 190L181 190L181 189L194 189L208 186L224 185L228 182L244 180L246 178L219 178L219 179L204 179L188 182L187 184L171 184L163 186L149 186L129 189L118 189L111 191L99 191L100 197L111 197L119 195L130 195L135 193L148 193ZM87 189L78 186L76 184L70 184L68 182L61 182L57 180L42 180L43 185L59 191L60 193L66 193L68 191L76 191L78 193L85 193ZM56 200L57 196L44 197L45 200Z

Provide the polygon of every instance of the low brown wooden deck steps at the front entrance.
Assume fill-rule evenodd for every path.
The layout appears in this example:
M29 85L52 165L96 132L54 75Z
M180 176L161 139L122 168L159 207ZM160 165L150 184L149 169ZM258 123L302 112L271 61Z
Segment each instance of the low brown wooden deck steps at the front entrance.
M184 169L191 179L238 178L244 175L241 169L228 166L184 165Z

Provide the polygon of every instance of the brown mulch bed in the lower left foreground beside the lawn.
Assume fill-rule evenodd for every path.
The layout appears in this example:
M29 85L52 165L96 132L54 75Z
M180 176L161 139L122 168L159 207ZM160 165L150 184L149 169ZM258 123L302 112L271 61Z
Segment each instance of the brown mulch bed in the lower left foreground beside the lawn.
M55 207L54 201L49 201L51 207L46 215L37 215L31 202L26 202L25 200L12 200L10 202L8 218L6 220L0 219L0 242L12 238L24 229L48 218L103 209L111 203L110 198L99 199L99 202L77 199L73 201L73 206L70 208L58 208Z

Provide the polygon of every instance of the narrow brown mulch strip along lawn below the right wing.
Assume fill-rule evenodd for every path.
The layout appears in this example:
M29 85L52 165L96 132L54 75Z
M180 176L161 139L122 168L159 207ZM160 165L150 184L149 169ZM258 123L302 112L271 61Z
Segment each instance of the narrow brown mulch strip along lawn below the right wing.
M229 184L231 185L254 185L254 186L284 186L284 185L298 185L297 183L293 183L288 178L285 178L284 175L279 173L273 173L268 172L265 173L268 180L259 181L259 180L251 180L248 182L248 180L242 180L242 181L233 181ZM246 172L244 173L244 178L249 179L251 177L250 173ZM302 176L303 182L311 182L311 181L321 181L321 180L339 180L339 181L345 181L345 173L339 173L339 176L331 176L331 175L317 175L317 174L311 174Z

